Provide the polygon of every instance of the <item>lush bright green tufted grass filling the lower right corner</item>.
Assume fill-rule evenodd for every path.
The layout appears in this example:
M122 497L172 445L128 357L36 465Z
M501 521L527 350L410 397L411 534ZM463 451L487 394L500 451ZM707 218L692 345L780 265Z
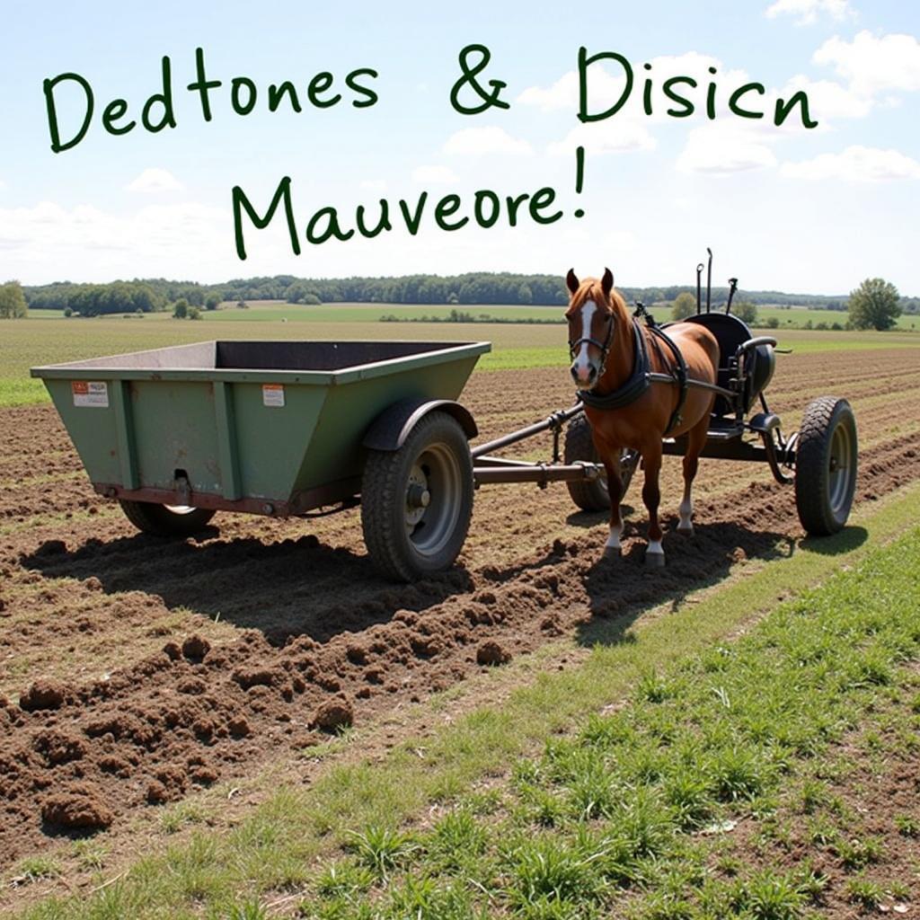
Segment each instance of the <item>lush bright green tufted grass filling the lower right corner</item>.
M916 678L920 529L856 571L784 604L753 633L646 671L630 705L592 715L574 737L519 761L488 796L466 796L414 834L351 830L350 855L313 883L305 916L339 920L786 920L820 903L825 878L710 868L724 834L772 816L778 796L828 749ZM903 720L920 747L920 719ZM813 806L827 787L811 783ZM813 849L820 848L815 838ZM823 845L854 873L881 845L827 830ZM736 877L738 876L738 877ZM852 882L853 880L851 880ZM862 901L874 891L851 888Z

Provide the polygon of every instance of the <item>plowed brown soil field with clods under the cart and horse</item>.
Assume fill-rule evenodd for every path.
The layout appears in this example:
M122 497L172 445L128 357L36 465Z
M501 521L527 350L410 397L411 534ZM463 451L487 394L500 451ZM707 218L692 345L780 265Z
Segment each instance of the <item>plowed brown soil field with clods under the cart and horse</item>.
M920 474L918 352L779 358L768 396L791 431L812 397L850 399L857 502ZM569 405L564 370L476 374L463 400L490 438ZM521 455L548 457L548 438ZM366 723L484 666L624 626L654 604L795 552L793 490L764 467L703 461L696 535L673 533L680 466L662 477L666 569L642 565L626 497L624 558L564 486L477 493L459 564L395 586L366 558L357 511L318 521L217 515L201 536L139 535L98 498L53 408L0 410L0 864L50 838L117 826L218 778L251 775L342 721Z

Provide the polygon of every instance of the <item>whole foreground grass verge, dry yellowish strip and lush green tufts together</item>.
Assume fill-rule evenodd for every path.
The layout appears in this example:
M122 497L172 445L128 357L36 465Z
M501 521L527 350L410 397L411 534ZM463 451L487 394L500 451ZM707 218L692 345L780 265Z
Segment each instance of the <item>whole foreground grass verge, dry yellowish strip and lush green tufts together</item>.
M382 763L336 765L311 788L281 788L233 830L196 832L105 891L22 915L223 917L247 899L306 891L322 911L313 915L327 917L450 920L496 915L497 905L578 917L644 880L662 904L676 903L706 874L686 831L740 809L768 812L789 765L837 737L891 686L880 681L898 679L898 656L914 655L920 535L871 555L868 547L913 527L918 510L920 487L904 489L843 534L698 603L669 604L625 637L613 624L610 644L577 669L522 671L524 685L500 707L409 739ZM775 604L777 584L801 590L867 557L726 644ZM589 716L630 693L618 716ZM432 807L442 813L427 827ZM413 818L427 829L413 830ZM753 873L699 902L711 916L732 915L720 913L725 905L769 916L771 899L798 910L813 885L804 871ZM576 888L584 897L572 903Z

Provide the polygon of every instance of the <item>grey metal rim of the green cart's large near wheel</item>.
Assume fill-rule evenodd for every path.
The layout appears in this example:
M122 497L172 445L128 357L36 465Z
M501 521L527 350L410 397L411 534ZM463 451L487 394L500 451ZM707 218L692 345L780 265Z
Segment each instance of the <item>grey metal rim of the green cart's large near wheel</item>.
M409 471L406 535L421 556L434 556L449 542L460 518L461 471L454 452L429 444Z

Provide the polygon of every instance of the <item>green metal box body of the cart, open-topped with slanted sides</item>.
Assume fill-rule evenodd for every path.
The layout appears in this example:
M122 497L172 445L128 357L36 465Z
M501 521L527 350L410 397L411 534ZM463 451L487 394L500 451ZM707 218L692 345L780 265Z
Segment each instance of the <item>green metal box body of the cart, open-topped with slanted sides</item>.
M209 341L32 368L97 491L293 514L356 494L362 437L456 399L489 342Z

